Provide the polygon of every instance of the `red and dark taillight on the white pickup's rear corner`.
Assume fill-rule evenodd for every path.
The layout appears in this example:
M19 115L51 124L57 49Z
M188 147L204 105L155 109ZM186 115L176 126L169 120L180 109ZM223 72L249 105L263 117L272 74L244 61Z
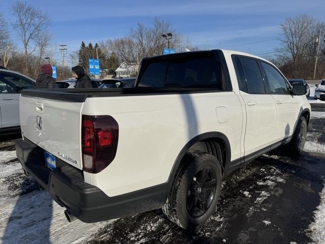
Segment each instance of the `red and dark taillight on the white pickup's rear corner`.
M118 142L118 124L109 115L82 115L83 170L98 173L115 158Z

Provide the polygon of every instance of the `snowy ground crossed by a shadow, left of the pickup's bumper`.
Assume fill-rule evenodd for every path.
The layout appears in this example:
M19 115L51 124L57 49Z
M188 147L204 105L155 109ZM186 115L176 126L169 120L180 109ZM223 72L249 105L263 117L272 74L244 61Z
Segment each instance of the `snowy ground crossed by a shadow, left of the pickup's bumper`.
M113 221L94 224L66 220L64 208L26 177L15 150L0 151L1 243L85 243ZM19 230L19 231L18 231Z

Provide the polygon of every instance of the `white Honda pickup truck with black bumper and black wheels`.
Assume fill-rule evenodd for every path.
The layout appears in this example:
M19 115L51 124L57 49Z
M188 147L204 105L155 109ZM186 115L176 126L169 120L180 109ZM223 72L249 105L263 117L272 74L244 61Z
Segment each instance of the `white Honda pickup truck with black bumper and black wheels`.
M134 88L23 90L17 157L69 221L163 209L191 228L215 210L223 176L282 144L301 153L304 94L243 52L145 58Z

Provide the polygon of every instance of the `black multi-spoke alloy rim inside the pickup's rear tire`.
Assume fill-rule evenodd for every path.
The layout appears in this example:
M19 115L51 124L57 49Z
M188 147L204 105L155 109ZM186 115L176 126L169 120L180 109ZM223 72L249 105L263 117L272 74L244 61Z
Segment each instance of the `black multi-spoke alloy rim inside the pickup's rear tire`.
M194 175L186 197L186 209L192 218L204 215L213 201L216 189L216 174L211 168L204 167Z

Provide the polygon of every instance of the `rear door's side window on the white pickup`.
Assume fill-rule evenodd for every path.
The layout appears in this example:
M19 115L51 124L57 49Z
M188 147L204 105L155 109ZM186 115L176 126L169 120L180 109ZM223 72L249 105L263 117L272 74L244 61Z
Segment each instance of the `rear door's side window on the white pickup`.
M249 94L265 94L265 86L261 70L259 70L257 60L253 58L240 57L240 63L244 69Z

